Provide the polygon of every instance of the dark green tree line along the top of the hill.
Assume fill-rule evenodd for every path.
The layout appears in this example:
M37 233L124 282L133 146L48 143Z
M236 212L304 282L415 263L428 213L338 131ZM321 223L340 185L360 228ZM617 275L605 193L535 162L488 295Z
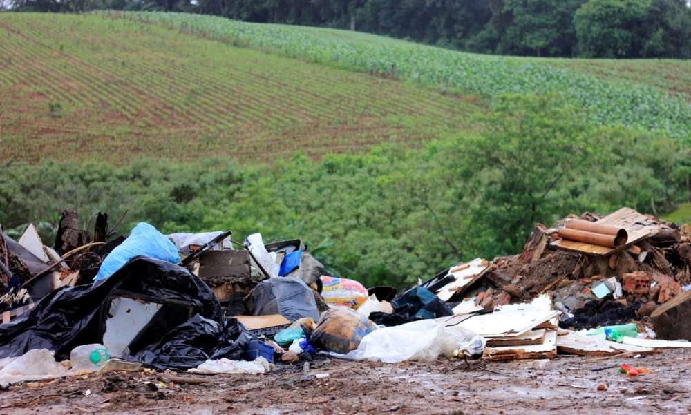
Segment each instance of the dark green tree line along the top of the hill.
M499 55L691 58L688 0L5 0L38 12L161 10L372 32Z

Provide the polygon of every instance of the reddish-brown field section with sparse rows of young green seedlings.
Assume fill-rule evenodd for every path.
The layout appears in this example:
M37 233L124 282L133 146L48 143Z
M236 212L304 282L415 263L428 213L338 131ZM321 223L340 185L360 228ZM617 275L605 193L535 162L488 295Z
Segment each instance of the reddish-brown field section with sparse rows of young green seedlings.
M0 157L267 161L477 128L482 99L102 15L0 14Z

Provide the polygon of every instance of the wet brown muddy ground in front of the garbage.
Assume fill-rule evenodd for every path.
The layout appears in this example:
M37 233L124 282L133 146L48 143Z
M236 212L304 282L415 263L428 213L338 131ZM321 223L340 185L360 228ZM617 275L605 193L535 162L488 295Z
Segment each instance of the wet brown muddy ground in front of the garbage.
M267 375L193 376L161 383L153 371L88 374L12 385L3 414L690 414L691 349L652 356L560 356L507 363L437 360L384 364L319 357ZM628 363L652 369L631 378ZM328 373L316 379L314 374ZM187 374L178 376L192 377ZM307 378L306 378L307 377ZM598 391L605 383L607 390Z

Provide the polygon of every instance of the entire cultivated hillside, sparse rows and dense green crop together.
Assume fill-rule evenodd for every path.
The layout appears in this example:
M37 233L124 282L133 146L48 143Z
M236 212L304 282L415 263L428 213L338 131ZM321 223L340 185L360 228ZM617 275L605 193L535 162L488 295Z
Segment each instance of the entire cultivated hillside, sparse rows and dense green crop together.
M273 162L482 131L506 93L691 142L688 61L496 57L180 13L0 15L0 156Z

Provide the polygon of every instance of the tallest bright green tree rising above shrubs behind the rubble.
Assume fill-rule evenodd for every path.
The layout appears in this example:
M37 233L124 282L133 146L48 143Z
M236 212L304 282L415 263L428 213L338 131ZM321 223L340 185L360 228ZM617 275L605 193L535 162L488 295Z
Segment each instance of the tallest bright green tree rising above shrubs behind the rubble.
M516 252L536 222L560 210L558 189L585 166L593 127L553 96L505 96L484 119L489 131L462 144L459 175L477 195L468 200L475 226Z

